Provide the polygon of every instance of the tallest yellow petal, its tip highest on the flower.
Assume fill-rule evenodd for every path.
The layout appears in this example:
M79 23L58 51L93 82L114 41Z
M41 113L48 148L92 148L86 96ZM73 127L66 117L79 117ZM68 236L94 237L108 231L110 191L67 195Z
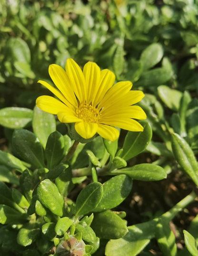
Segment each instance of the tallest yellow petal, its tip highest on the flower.
M86 85L85 77L79 65L73 59L67 59L66 72L73 87L74 93L80 102L85 102Z

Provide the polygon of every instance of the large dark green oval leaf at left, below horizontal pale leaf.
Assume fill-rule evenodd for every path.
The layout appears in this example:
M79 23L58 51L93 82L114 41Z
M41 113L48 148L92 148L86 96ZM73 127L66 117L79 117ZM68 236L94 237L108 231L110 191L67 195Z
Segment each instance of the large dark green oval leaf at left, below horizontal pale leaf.
M42 146L32 132L24 129L15 130L12 145L23 160L36 168L45 167Z

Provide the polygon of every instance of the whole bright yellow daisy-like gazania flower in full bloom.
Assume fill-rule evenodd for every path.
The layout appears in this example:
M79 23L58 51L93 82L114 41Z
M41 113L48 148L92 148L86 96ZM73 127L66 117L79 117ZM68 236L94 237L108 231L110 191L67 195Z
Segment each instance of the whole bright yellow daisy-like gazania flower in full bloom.
M55 96L40 96L36 106L58 116L61 123L75 123L75 130L84 139L96 133L114 141L119 137L117 128L129 131L143 131L136 120L146 119L139 106L144 94L131 91L132 83L119 82L108 69L100 71L96 63L88 62L83 71L73 60L66 62L66 71L57 64L49 65L49 75L58 90L45 81L38 83L47 87Z

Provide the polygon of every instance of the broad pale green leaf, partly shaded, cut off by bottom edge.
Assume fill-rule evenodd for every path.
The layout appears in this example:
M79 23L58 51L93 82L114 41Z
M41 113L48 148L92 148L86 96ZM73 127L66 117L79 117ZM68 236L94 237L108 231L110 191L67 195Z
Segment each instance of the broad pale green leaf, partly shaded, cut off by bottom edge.
M119 240L110 240L105 249L106 256L137 256L155 236L157 221L152 220L129 226L129 232Z

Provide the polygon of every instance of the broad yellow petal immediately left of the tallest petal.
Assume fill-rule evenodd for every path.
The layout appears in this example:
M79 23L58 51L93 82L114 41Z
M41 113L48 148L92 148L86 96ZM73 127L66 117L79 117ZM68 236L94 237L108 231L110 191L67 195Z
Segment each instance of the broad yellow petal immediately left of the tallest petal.
M65 98L70 102L70 104L77 107L77 99L65 70L57 64L51 64L49 65L49 75L53 80L54 84L65 96Z

